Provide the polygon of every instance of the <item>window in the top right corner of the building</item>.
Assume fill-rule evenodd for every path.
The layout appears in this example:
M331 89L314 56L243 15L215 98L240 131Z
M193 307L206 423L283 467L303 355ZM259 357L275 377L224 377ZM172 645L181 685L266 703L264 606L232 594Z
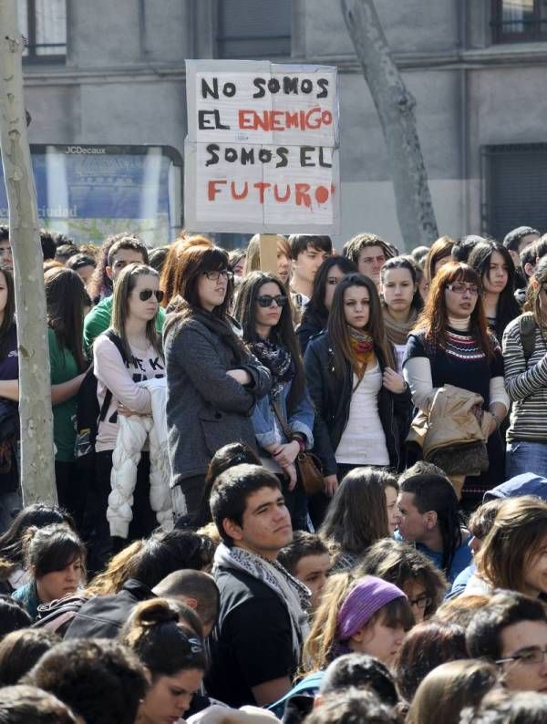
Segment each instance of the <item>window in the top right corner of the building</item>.
M547 37L547 0L493 0L492 15L497 43Z

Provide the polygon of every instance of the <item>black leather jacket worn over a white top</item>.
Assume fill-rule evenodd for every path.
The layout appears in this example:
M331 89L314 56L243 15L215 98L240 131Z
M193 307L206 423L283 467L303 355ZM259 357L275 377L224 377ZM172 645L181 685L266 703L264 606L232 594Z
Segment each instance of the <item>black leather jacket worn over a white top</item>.
M383 371L386 364L378 351L377 358ZM342 382L335 378L333 348L327 332L310 340L304 363L308 390L315 405L314 452L323 463L324 474L335 475L335 450L349 419L353 371L348 362ZM395 394L382 386L377 401L389 463L394 470L400 471L404 467L401 441L407 436L412 409L410 390L406 388Z

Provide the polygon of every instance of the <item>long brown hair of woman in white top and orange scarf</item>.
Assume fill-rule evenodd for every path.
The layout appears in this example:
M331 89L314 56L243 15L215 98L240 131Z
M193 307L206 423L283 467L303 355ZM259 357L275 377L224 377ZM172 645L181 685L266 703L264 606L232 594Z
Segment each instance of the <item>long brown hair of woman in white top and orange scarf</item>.
M344 313L344 295L346 294L346 289L352 286L361 286L368 290L368 322L364 331L372 337L375 351L378 356L381 357L384 365L393 367L394 369L396 367L393 347L387 341L384 315L382 314L382 306L376 284L364 274L346 274L346 276L336 284L335 296L327 324L335 357L335 377L339 380L344 378L347 363L354 369L356 368L349 331L347 329L346 315Z

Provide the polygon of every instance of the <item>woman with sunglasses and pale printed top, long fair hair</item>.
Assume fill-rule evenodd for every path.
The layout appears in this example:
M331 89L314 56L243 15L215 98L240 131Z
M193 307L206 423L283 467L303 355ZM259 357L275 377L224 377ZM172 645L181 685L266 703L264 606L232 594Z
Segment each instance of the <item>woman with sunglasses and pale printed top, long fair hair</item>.
M97 378L98 420L95 442L97 496L97 542L94 554L100 563L113 546L107 521L112 452L118 438L119 415L150 415L150 390L138 383L165 377L161 339L156 331L156 316L163 297L160 275L147 264L128 264L114 285L110 328L93 344L94 374ZM123 355L121 352L123 351ZM106 408L106 409L105 409ZM129 541L149 535L156 527L150 508L150 456L142 452L133 492ZM125 540L123 541L125 543Z

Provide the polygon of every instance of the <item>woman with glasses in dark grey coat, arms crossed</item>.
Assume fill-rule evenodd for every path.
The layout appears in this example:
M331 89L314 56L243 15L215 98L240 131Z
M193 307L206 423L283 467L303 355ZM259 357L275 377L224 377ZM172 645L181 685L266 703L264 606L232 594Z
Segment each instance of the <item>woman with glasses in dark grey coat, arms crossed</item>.
M218 246L186 249L175 291L164 332L171 489L175 512L194 514L214 453L234 440L256 450L251 415L271 376L228 316L228 253Z

